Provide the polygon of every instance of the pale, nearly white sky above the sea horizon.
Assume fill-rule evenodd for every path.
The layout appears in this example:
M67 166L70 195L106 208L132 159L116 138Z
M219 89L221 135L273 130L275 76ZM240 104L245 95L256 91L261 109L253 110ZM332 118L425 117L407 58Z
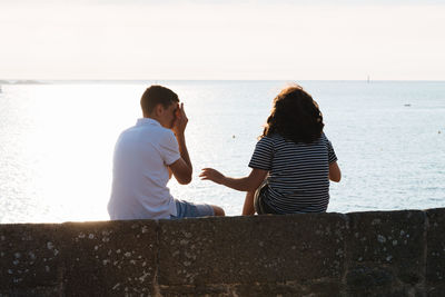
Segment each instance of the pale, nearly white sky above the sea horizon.
M444 1L0 0L0 79L445 80Z

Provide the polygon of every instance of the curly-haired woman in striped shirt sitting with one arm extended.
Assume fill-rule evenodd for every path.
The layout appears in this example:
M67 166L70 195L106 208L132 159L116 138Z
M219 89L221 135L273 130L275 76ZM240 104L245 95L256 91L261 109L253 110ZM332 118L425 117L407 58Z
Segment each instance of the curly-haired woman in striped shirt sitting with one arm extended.
M250 174L226 177L202 169L204 180L247 191L243 215L324 212L329 202L329 179L340 170L330 141L323 132L317 102L299 86L284 89L250 159Z

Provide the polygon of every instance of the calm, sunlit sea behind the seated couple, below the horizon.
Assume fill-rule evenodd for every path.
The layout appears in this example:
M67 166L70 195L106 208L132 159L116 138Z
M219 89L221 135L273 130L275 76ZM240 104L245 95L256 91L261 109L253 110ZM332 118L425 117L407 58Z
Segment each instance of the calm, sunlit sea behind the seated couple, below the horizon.
M241 212L240 177L285 81L157 81L185 102L194 181L177 198ZM106 220L115 141L148 82L6 85L0 93L0 222ZM445 206L445 82L300 81L318 101L343 180L328 211Z

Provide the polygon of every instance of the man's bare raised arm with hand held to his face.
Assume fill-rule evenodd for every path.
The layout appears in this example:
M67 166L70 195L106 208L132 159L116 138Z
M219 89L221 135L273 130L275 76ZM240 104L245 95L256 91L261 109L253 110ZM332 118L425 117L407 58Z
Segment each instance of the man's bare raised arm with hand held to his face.
M184 111L184 103L178 107L178 116L175 121L175 126L172 128L176 140L179 146L180 158L171 164L169 167L179 184L187 185L191 181L192 167L190 161L190 156L188 155L187 146L186 146L186 127L187 127L188 118L186 112Z

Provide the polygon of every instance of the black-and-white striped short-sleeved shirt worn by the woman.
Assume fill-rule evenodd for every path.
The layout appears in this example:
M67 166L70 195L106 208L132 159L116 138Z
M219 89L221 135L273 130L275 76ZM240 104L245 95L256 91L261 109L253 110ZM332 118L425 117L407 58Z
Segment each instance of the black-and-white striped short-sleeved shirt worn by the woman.
M312 143L273 135L257 142L249 167L269 171L265 202L278 214L324 212L329 202L329 164L335 161L324 133Z

